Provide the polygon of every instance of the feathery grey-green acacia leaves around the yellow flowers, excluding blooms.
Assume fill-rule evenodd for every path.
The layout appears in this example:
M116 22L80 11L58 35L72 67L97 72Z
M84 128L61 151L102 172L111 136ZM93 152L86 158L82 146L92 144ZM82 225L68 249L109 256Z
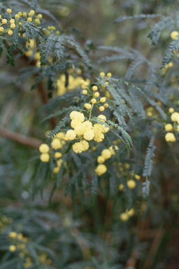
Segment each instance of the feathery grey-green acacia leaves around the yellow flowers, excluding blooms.
M28 2L28 1L26 1ZM31 8L35 10L38 8L38 3L36 1L30 2ZM155 18L160 18L159 22L150 32L149 36L152 39L152 43L157 44L159 39L159 34L162 29L166 27L171 27L173 22L171 18L164 17L161 15L136 15L134 17L124 17L116 20L120 22L127 19L145 19L155 20ZM53 20L54 23L55 20ZM136 149L136 145L140 143L145 144L145 139L148 137L146 134L151 134L151 130L155 128L161 128L162 123L166 120L166 113L164 112L164 106L160 106L158 102L162 102L165 106L168 105L168 92L166 92L166 87L162 81L162 74L159 73L155 64L150 62L146 57L139 53L134 48L118 48L117 46L98 46L97 49L101 50L101 53L112 51L112 55L105 56L106 53L99 59L98 55L92 62L90 60L90 46L87 49L87 42L81 38L81 34L78 31L72 31L72 29L63 29L59 24L55 24L56 29L60 30L60 34L56 35L55 32L50 32L47 34L48 21L42 20L40 26L36 26L34 22L22 22L23 32L27 36L27 41L29 39L34 39L36 41L36 51L39 51L41 55L41 67L24 67L21 69L22 76L20 80L27 79L29 76L33 76L34 83L31 89L36 89L41 83L47 85L48 91L55 91L57 87L57 80L62 74L65 75L64 86L67 88L69 84L69 74L68 69L75 67L75 69L80 68L81 76L84 79L90 78L92 85L97 85L99 90L101 90L101 96L103 95L103 85L106 85L106 90L110 92L111 98L106 100L108 104L108 111L106 112L107 120L105 123L96 118L99 111L92 111L92 123L101 123L106 127L110 127L110 131L104 135L105 139L102 144L97 145L97 150L88 154L87 152L81 153L81 155L76 155L72 151L73 142L69 142L64 147L62 153L64 154L64 163L67 165L62 165L62 169L59 170L57 177L53 175L53 188L50 194L50 199L52 198L52 193L54 193L55 188L63 188L64 181L63 176L66 174L68 181L65 186L65 194L71 193L71 198L73 205L76 204L76 197L78 193L82 202L85 201L85 189L90 188L91 198L84 202L84 204L89 204L96 200L97 193L101 188L101 181L108 181L108 194L110 197L115 197L117 193L117 184L124 184L125 195L127 197L127 202L129 207L131 207L133 198L131 191L127 187L126 180L131 177L130 174L123 177L122 172L119 167L115 167L114 163L125 163L128 162L128 158L132 158L131 149ZM75 34L74 34L75 32ZM7 42L10 41L10 46L6 46ZM24 53L27 48L24 46L25 39L18 36L17 27L15 29L13 39L6 38L1 35L1 50L5 51L8 62L14 64L13 51L18 49L19 53ZM164 57L163 65L171 61L173 57L173 50L178 47L178 40L173 41L171 46L169 46L169 53ZM94 46L95 48L95 46ZM94 49L91 48L91 49ZM52 58L52 61L48 61L48 57ZM108 64L113 61L128 61L126 65L126 73L124 77L119 77L119 74L115 74L113 77L99 76L99 68L101 64ZM143 78L138 78L138 71L141 67L146 67L147 74ZM45 84L46 83L46 84ZM100 97L97 97L99 101ZM67 92L63 96L55 97L48 104L45 104L39 111L45 115L44 120L50 120L54 117L57 118L57 125L54 130L48 133L47 142L50 143L51 139L57 135L58 132L66 132L71 129L69 114L71 111L81 111L84 109L85 102L89 102L87 96L82 95L80 87L76 87L71 92ZM146 107L152 106L155 109L155 114L157 115L157 122L152 122L152 118L146 115ZM57 112L55 112L57 111ZM64 114L64 115L63 115ZM87 120L87 115L85 115ZM160 123L161 122L161 123ZM44 123L43 123L44 124ZM136 133L138 136L135 136ZM116 140L116 141L115 141ZM115 144L117 142L118 149L115 149ZM142 141L142 142L141 142ZM143 176L152 176L152 161L154 158L154 146L150 146L147 151L146 158L144 160L145 149L138 147L138 156L136 160L140 160L144 164ZM96 146L93 142L90 142L90 150L92 146ZM111 161L106 160L106 165L110 167L114 165L114 169L110 169L103 176L97 177L94 173L97 163L97 158L100 156L103 149L107 149L112 146L115 153L112 156ZM129 157L127 156L129 154ZM139 157L140 156L140 157ZM66 160L65 160L66 159ZM137 167L136 160L131 162L131 169L138 171L138 174L142 174L141 167ZM41 195L43 195L43 187L45 186L46 178L52 177L53 169L55 167L55 159L50 158L50 164L43 167L40 165L34 177L34 191L36 188L41 189ZM48 172L50 171L50 172ZM131 172L131 170L129 170ZM88 177L92 177L89 182ZM41 183L39 183L41 179ZM145 184L146 188L148 184ZM148 193L148 191L147 191ZM91 202L90 202L91 201ZM76 207L76 205L75 205ZM76 212L78 211L76 207Z

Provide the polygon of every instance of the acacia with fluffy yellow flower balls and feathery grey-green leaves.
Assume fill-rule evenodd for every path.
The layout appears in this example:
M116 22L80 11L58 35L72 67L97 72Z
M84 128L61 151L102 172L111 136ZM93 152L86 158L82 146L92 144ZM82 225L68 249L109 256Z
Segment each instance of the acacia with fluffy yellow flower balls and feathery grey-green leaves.
M141 14L115 20L155 22L148 34L152 46L157 46L162 30L169 29L169 46L157 67L134 48L96 46L77 29L62 27L39 10L37 1L24 2L29 8L11 8L1 1L0 54L6 54L14 68L24 57L18 80L31 78L31 90L40 91L45 103L38 113L47 139L38 145L34 160L32 199L39 191L43 199L44 188L53 184L49 202L61 188L70 194L78 216L81 207L95 207L97 198L105 197L113 200L118 221L126 223L135 214L136 202L148 200L151 186L156 186L159 141L172 148L179 140L177 83L168 80L178 64L178 17ZM110 70L111 62L118 60L127 62L122 74ZM138 72L141 67L145 77ZM52 129L45 131L45 123ZM13 240L16 234L9 237ZM22 258L27 255L20 253ZM31 266L28 261L24 268ZM47 268L54 268L48 262Z

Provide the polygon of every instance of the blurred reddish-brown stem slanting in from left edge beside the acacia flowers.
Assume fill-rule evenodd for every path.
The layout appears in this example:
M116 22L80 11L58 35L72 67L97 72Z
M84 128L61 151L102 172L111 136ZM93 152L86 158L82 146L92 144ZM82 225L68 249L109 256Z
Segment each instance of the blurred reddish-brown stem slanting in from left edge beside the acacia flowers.
M38 148L43 143L41 140L25 137L24 135L20 135L17 132L10 131L4 127L0 127L0 135L25 146L31 146L32 148Z

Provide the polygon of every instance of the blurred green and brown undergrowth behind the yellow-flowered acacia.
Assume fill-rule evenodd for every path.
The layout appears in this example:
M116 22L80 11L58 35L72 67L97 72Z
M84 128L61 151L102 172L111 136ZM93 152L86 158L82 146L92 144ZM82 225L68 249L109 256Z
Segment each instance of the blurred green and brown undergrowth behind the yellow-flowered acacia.
M12 9L20 9L13 1L11 4ZM113 22L124 15L170 15L179 2L38 0L38 4L39 12L46 19L58 20L59 26L73 27L74 32L78 29L83 45L86 42L94 48L100 45L134 48L159 69L170 42L169 30L162 32L157 46L152 46L147 36L158 19L124 20L117 25ZM27 8L23 2L20 6ZM106 51L94 50L90 57L95 62L96 54L102 57L104 53ZM136 215L127 223L119 221L117 211L112 212L111 201L103 196L99 197L96 207L80 208L78 216L74 214L71 198L65 197L63 191L55 191L49 205L50 182L43 199L38 193L34 201L31 199L38 145L45 142L45 132L53 127L51 121L39 125L44 117L39 109L46 102L43 89L30 90L33 76L20 79L23 67L31 65L27 56L17 60L15 68L8 67L5 55L0 60L0 231L3 226L9 227L8 232L16 227L18 233L31 238L31 248L40 253L38 256L48 253L52 266L57 268L179 268L177 149L158 142L156 182L152 182L150 198L148 203L136 205ZM100 68L122 77L128 65L124 59L110 62L108 66L101 64ZM138 77L145 77L145 71L145 68L138 69ZM176 73L170 71L166 80L171 83L173 76ZM4 221L4 216L13 222ZM1 267L5 241L3 238L0 247L0 268L6 268ZM42 264L50 266L47 258ZM37 268L45 268L43 266Z

